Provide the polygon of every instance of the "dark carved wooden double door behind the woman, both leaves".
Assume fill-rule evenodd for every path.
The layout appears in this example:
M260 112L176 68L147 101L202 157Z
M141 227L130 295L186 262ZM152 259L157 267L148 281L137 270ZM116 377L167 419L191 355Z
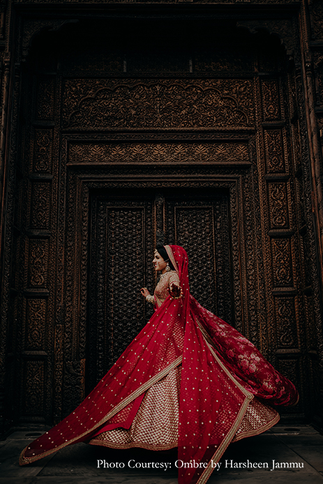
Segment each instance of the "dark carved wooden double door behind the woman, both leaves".
M186 248L192 294L231 322L227 198L205 190L92 194L87 391L152 315L140 288L152 293L157 282L151 262L158 227L164 243Z

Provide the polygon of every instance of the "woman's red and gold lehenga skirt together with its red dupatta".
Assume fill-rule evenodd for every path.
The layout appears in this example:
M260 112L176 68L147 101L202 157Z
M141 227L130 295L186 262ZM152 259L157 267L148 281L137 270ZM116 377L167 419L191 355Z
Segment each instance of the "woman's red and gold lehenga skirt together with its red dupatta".
M186 251L165 249L177 275L172 271L158 283L156 312L84 402L22 451L20 464L81 441L177 446L179 460L205 465L179 469L179 484L202 484L230 442L278 422L266 402L297 402L294 385L251 342L190 296ZM177 277L178 299L167 292Z

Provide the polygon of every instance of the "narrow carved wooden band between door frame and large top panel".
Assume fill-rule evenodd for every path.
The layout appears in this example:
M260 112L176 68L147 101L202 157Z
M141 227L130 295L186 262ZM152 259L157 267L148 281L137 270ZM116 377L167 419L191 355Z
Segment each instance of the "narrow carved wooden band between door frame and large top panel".
M70 144L70 163L249 162L246 143Z

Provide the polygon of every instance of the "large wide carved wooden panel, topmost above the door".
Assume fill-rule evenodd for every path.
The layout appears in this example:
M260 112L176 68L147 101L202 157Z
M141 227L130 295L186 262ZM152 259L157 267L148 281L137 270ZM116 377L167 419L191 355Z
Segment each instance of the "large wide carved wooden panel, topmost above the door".
M63 128L250 128L250 80L65 80Z

